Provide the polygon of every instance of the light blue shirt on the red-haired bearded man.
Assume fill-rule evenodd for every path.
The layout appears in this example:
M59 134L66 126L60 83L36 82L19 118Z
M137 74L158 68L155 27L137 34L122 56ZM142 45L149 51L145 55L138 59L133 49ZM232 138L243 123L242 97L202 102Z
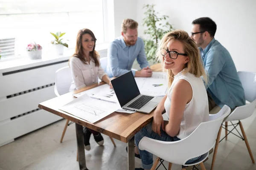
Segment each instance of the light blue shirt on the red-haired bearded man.
M131 71L136 58L140 68L149 67L143 40L138 37L134 45L127 46L123 37L118 37L111 42L108 48L108 65L106 69L108 76L118 77ZM133 75L135 75L135 72L132 70Z

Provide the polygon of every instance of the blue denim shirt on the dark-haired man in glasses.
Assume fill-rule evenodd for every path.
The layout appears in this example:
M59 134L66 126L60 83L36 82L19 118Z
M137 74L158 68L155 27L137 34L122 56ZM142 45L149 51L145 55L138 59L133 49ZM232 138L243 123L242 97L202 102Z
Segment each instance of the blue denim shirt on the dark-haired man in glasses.
M203 50L199 48L209 82L206 89L214 102L231 109L245 105L244 89L230 53L214 38Z

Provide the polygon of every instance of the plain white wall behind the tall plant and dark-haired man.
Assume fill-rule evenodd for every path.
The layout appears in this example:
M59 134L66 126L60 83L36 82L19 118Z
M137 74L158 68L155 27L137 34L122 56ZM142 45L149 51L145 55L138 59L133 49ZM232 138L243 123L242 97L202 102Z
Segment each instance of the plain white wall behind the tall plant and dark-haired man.
M196 18L212 18L217 24L215 39L230 52L237 70L256 72L256 0L138 0L139 36L143 36L144 4L155 4L175 29L189 33Z

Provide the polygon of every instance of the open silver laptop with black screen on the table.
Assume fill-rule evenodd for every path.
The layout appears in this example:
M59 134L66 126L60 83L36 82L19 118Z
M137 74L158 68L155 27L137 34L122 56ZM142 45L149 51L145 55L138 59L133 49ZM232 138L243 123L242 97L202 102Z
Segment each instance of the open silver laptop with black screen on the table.
M111 80L122 109L150 113L163 97L140 94L131 71Z

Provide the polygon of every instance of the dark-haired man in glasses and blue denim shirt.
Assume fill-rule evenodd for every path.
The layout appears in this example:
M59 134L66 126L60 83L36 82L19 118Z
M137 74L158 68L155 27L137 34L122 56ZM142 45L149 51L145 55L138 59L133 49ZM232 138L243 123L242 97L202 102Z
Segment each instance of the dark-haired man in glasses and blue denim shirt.
M214 35L217 26L209 17L202 17L192 22L191 38L197 43L208 83L210 113L218 113L224 105L231 109L245 105L244 89L238 77L236 66L230 53Z

